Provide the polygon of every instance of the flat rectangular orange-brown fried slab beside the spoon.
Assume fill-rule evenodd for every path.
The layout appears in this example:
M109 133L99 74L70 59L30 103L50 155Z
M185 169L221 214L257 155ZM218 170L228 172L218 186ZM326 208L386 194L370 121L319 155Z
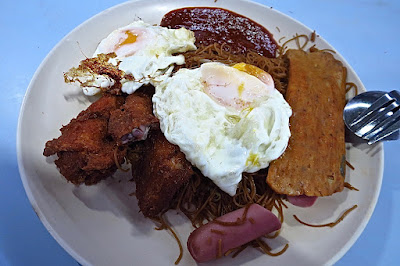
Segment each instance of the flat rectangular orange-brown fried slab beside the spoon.
M329 196L343 190L346 68L332 54L289 50L286 100L291 138L267 182L279 194Z

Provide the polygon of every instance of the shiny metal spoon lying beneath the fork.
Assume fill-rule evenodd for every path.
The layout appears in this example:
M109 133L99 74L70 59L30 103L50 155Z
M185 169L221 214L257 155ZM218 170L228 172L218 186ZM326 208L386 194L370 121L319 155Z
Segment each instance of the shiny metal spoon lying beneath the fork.
M377 99L379 99L386 92L383 91L367 91L356 95L352 98L345 106L343 111L343 119L344 123L347 126L347 129L350 128L351 123L361 114L365 109L369 108L372 103L374 103ZM350 131L350 130L348 130ZM356 137L354 132L351 134L346 132L346 141L348 142L360 142L360 136ZM382 139L386 140L397 140L400 138L399 130L393 132L391 135Z

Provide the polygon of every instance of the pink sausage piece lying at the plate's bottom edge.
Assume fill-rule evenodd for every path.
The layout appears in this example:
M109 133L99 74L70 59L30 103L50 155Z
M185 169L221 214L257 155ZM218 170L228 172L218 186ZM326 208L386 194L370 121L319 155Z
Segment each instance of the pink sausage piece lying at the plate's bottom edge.
M242 219L245 208L227 213L217 221L234 223ZM232 248L281 228L279 219L258 204L251 204L241 225L222 225L215 220L194 230L188 239L188 250L195 261L218 258Z

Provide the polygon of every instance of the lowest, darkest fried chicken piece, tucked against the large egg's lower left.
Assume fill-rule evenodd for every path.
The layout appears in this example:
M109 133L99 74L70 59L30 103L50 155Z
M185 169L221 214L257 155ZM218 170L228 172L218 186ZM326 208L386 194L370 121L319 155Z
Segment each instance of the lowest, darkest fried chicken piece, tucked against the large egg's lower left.
M160 130L152 130L142 143L138 146L142 156L135 158L132 175L140 210L146 217L155 217L169 207L193 170L179 147L169 143Z

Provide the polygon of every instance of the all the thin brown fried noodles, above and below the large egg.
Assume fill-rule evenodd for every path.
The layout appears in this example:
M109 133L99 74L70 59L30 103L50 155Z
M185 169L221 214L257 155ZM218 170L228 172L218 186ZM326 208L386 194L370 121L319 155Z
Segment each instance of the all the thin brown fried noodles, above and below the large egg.
M296 34L293 38L283 43L276 58L267 58L253 51L248 52L246 55L232 54L230 53L231 47L228 44L220 45L215 43L208 46L199 46L196 51L184 53L185 65L178 66L174 71L177 71L180 68L197 68L205 62L221 62L228 65L244 62L246 64L257 66L269 73L274 80L276 89L285 95L288 85L289 62L283 55L287 50L287 45L290 42L295 42L298 49L304 50L309 41L310 39L307 35ZM313 36L311 36L311 41L315 41ZM315 51L318 51L315 46L312 48ZM348 84L348 90L353 88L352 83ZM189 180L189 183L178 192L169 209L180 210L185 216L187 216L195 228L199 228L209 221L214 221L224 226L231 226L244 223L247 219L246 214L248 206L252 203L257 203L264 208L277 213L278 219L283 223L283 211L284 208L287 208L283 201L283 197L285 196L277 194L268 186L265 182L266 176L266 169L262 169L252 174L243 173L242 181L238 185L237 192L232 197L220 190L210 179L203 176L198 169L194 169L194 175ZM295 219L308 226L332 227L343 220L343 218L356 207L357 205L347 210L336 222L326 225L310 225L300 221L296 216ZM236 222L226 223L216 220L218 217L240 208L246 209L243 213L243 217L238 219ZM175 232L163 218L163 214L160 215L158 222L161 223L161 226L158 229L168 229L178 242L180 255L175 262L175 264L177 264L182 258L182 244ZM254 220L250 222L254 223ZM215 231L214 233L220 235L225 234L223 231ZM219 241L217 245L218 257L232 255L234 258L249 246L257 248L270 256L279 256L288 249L289 244L286 244L279 252L273 253L271 252L272 248L265 242L266 239L276 238L279 233L280 230L271 235L262 236L240 247L228 250L225 254L222 254L222 241Z

